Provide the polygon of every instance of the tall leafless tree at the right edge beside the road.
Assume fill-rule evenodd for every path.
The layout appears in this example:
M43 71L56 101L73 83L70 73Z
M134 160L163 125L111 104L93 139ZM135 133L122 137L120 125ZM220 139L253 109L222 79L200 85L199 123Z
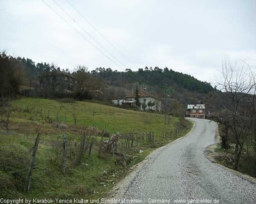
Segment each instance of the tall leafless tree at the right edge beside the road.
M218 104L220 122L224 124L227 135L230 131L234 136L234 168L237 170L244 143L254 121L249 101L255 94L255 74L246 62L237 66L237 63L223 61L222 77L222 82L218 82L222 91Z

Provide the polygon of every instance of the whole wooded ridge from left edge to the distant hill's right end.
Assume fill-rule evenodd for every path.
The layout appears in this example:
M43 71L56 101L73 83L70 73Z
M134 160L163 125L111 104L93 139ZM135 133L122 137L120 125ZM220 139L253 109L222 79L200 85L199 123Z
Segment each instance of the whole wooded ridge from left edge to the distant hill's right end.
M195 77L168 68L146 66L144 69L139 68L138 71L131 69L117 71L100 67L89 71L86 66L77 66L70 72L53 63L36 64L32 59L12 57L5 52L0 55L0 69L1 73L4 73L1 78L5 78L0 82L1 96L12 92L15 94L18 91L17 85L23 85L23 89L40 90L39 95L43 98L66 97L64 92L68 90L76 93L74 94L76 99L107 101L111 98L125 98L134 94L135 87L138 85L140 91L148 92L157 98L164 98L168 94L170 98L186 104L203 102L205 94L215 90L208 82L201 82ZM15 78L15 73L19 73L17 75L19 80L18 77ZM76 86L70 88L64 82L60 82L58 80L60 73L76 79ZM16 87L10 88L13 85ZM99 92L104 94L98 94Z

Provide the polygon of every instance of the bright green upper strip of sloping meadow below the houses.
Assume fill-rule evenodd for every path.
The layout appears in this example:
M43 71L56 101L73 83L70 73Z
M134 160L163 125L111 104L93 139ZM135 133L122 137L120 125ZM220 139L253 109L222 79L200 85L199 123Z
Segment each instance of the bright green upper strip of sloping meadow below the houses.
M170 126L164 126L164 115L156 113L134 112L113 106L99 105L97 103L86 103L77 101L76 103L60 103L48 99L22 98L13 102L13 106L21 110L28 109L28 112L16 113L18 119L43 120L48 116L52 119L74 124L76 115L78 125L95 126L98 129L116 133L131 133L133 129L138 132L154 131L161 135L163 131L170 131L173 124L178 121L172 118ZM40 113L42 111L42 113ZM66 119L65 119L66 118Z

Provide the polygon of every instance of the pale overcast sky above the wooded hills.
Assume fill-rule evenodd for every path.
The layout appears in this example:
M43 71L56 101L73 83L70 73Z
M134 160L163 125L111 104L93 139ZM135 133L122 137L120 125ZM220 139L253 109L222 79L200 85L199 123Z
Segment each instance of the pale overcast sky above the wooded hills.
M256 0L54 1L0 0L0 51L70 70L168 67L212 85L223 59L256 70Z

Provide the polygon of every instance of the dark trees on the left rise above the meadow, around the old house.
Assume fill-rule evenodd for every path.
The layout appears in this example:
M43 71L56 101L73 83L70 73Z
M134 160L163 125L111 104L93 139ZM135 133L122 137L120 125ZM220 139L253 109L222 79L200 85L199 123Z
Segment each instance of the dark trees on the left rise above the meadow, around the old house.
M100 77L90 75L84 66L77 66L70 73L54 63L35 64L31 59L12 57L6 52L0 53L0 71L0 98L12 98L22 90L42 98L92 99L90 92L102 87Z

